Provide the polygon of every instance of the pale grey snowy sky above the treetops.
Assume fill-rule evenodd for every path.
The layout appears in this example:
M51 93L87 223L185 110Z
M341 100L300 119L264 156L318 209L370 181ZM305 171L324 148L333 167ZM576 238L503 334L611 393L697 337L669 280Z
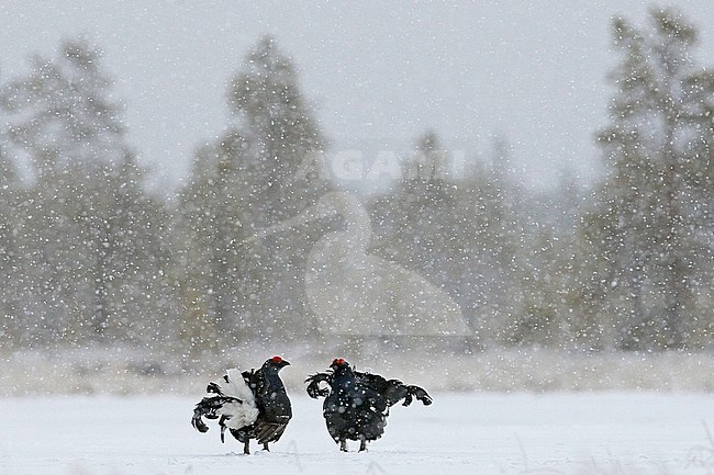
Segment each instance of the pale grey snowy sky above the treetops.
M714 1L670 1L700 29L714 66ZM561 167L596 169L596 128L616 57L610 21L642 24L645 1L281 2L42 1L0 3L3 78L33 53L89 35L126 105L130 139L164 186L185 177L194 148L222 132L230 78L271 34L290 55L333 151L403 151L433 128L476 154L499 134L529 183Z

